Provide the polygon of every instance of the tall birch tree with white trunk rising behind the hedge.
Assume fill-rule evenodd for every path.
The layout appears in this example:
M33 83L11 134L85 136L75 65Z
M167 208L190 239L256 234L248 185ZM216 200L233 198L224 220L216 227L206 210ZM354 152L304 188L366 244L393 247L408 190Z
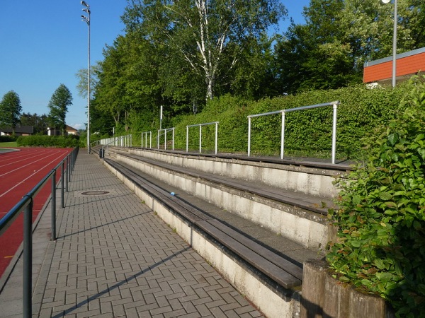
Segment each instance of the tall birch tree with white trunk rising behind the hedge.
M217 75L236 67L247 39L259 39L286 13L278 0L128 2L123 16L127 29L140 30L147 39L169 47L202 79L205 99L222 84Z

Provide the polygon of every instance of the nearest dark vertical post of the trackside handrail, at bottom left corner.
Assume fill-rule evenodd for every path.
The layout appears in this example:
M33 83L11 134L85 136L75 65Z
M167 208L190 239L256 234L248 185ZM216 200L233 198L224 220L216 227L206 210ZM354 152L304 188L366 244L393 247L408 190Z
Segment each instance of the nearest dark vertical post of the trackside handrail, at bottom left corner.
M23 317L33 315L33 198L23 211Z

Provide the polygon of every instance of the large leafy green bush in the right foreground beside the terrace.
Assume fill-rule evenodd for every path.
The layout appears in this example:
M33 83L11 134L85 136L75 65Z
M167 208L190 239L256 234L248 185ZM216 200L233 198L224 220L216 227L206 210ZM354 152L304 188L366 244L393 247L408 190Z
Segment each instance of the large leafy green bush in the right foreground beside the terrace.
M341 281L381 295L398 317L425 314L425 77L395 119L365 142L370 157L341 187L327 260ZM413 86L413 88L412 88ZM381 133L380 133L381 132Z

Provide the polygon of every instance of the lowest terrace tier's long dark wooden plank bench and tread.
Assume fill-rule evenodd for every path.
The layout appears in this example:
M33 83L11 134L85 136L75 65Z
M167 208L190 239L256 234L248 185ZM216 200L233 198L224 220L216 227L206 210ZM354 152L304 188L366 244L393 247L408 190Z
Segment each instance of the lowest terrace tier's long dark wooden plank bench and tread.
M208 235L210 240L215 240L221 249L227 249L232 255L240 257L247 265L261 271L284 288L296 288L301 285L302 261L321 258L317 253L278 237L258 225L250 224L243 218L226 217L225 214L228 213L194 196L171 195L167 184L135 171L128 165L111 159L105 161L128 177L137 187L166 204L170 211L191 223L192 227ZM280 251L266 245L264 241L273 242ZM296 259L288 257L287 254Z

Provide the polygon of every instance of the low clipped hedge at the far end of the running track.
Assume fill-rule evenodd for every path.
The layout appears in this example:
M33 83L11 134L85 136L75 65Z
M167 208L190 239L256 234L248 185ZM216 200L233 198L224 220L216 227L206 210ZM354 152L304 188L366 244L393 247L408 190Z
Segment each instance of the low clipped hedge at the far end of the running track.
M79 136L19 136L16 140L19 147L77 147L79 146Z

